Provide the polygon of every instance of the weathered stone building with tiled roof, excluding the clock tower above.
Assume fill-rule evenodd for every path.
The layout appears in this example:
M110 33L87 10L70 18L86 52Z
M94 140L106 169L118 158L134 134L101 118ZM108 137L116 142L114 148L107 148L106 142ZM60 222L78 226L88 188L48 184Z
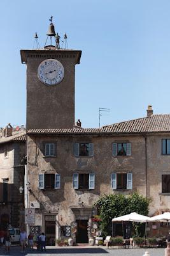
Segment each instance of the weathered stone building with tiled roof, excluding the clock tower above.
M39 202L43 231L51 215L57 238L73 221L87 234L94 202L104 194L139 191L152 200L150 216L169 211L169 128L170 115L151 115L101 129L27 131L29 201Z

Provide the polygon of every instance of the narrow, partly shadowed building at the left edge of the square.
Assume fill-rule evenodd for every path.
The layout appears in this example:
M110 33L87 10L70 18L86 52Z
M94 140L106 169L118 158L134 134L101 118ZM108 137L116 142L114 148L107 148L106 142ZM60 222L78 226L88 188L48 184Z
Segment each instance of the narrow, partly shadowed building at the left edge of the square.
M7 125L0 132L0 228L24 225L25 131Z

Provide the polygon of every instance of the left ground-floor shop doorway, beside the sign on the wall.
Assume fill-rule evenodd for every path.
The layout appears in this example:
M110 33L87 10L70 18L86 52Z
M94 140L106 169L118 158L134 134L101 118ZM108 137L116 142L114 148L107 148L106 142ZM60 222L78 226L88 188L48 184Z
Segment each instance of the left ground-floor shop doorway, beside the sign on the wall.
M55 215L45 216L46 245L55 245Z

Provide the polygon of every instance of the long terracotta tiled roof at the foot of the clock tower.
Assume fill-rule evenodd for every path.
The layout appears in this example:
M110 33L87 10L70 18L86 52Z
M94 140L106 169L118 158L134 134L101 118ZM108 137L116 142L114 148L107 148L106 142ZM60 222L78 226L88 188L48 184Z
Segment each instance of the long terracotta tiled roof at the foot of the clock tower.
M99 128L31 129L27 134L124 134L170 132L170 114L152 115Z

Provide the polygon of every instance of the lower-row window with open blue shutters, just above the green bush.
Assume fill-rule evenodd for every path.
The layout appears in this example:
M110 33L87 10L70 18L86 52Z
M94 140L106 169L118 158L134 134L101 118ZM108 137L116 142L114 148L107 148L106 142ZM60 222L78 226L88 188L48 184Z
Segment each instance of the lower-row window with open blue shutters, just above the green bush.
M111 173L112 189L132 189L132 173Z

